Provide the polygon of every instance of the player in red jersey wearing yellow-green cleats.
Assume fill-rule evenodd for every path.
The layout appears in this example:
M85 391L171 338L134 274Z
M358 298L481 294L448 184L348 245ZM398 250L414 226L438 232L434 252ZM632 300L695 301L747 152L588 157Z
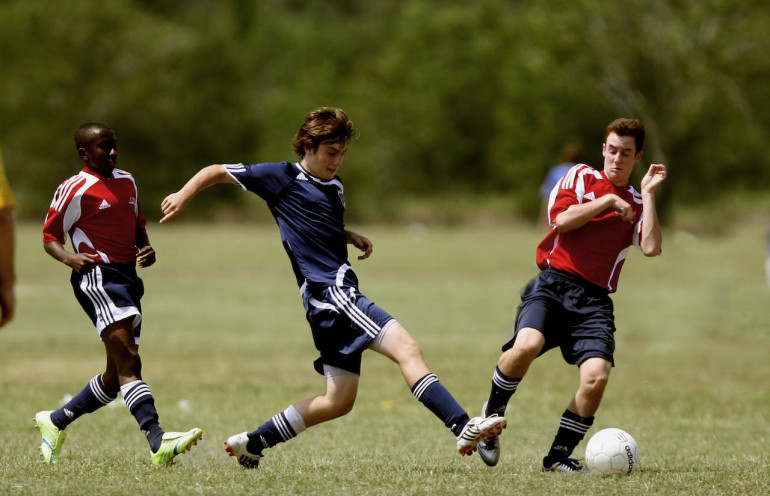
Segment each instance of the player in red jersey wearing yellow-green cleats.
M63 407L35 415L43 438L40 450L46 463L56 463L67 426L121 393L147 437L153 465L167 465L196 444L203 431L196 427L163 432L155 399L142 380L139 335L144 285L136 265L154 264L155 250L145 229L136 182L115 167L118 142L109 127L83 124L75 131L75 145L84 167L56 190L43 227L43 243L46 253L72 269L75 297L96 326L107 365ZM67 235L72 252L64 249Z

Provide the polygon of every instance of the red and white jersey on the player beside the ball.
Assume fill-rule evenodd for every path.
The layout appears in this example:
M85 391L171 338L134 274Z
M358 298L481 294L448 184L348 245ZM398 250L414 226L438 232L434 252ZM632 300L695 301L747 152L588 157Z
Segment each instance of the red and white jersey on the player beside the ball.
M579 229L560 233L553 228L537 247L538 267L569 272L611 293L617 290L628 249L631 245L639 248L641 241L642 196L634 187L630 184L617 187L603 171L585 164L575 165L551 191L548 221L553 227L556 216L571 205L610 193L631 205L633 221L621 220L608 208Z

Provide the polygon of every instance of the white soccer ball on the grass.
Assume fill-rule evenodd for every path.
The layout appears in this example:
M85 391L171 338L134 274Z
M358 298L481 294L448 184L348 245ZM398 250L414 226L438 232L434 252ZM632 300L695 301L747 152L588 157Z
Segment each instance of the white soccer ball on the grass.
M639 465L639 447L629 433L621 429L603 429L586 445L588 471L602 477L629 475Z

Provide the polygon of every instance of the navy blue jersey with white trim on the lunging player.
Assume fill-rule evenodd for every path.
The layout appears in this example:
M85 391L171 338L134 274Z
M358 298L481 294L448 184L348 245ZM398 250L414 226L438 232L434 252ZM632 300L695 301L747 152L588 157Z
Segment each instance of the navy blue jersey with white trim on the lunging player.
M267 202L299 286L307 283L313 291L357 284L347 260L344 189L338 177L323 181L289 162L224 167L243 189Z

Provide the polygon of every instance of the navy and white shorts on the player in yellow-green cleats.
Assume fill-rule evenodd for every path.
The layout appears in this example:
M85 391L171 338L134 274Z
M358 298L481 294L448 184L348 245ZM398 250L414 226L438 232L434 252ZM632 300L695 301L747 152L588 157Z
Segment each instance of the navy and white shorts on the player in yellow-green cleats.
M97 264L84 275L73 271L70 283L100 335L105 327L133 317L134 342L139 344L144 283L136 275L135 264Z

